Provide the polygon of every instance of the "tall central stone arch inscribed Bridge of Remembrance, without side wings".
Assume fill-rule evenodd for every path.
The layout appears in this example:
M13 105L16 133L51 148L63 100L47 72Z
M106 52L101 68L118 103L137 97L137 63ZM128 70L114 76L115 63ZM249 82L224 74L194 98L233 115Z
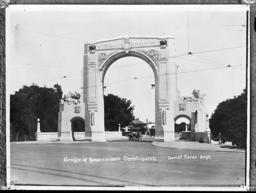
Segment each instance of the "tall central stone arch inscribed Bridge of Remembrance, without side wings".
M127 56L146 61L155 75L155 141L175 141L174 100L176 71L174 38L124 37L96 41L84 45L83 103L85 105L85 138L105 141L104 132L104 77L110 65Z

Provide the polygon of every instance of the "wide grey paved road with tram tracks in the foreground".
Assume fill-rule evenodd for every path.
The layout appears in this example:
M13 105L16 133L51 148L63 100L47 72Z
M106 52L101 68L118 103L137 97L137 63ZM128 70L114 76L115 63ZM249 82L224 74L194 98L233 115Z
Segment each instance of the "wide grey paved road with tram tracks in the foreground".
M170 159L168 156L181 156ZM186 156L197 158L185 159ZM210 159L200 159L201 155ZM153 157L128 161L124 156ZM81 162L64 162L64 157ZM91 158L104 161L90 162ZM105 160L120 157L120 160ZM87 158L86 163L82 159ZM152 158L152 159L154 159ZM245 153L170 149L150 142L11 144L11 184L87 186L242 185Z

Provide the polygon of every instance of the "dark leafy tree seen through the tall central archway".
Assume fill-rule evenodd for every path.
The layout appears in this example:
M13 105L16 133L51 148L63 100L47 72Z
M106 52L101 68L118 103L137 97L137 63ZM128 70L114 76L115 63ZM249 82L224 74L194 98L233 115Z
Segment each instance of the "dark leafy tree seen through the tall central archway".
M118 131L120 123L121 128L130 125L134 120L132 101L120 98L113 94L104 95L104 122L105 130Z

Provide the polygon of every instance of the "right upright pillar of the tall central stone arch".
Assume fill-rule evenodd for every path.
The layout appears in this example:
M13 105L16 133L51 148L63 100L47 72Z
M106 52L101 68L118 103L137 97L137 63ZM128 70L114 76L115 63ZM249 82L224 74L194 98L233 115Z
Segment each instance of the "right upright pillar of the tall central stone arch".
M167 38L167 45L158 51L158 74L155 80L156 110L156 142L171 142L175 140L174 101L177 98L176 77L171 73L177 70L173 55L174 39Z

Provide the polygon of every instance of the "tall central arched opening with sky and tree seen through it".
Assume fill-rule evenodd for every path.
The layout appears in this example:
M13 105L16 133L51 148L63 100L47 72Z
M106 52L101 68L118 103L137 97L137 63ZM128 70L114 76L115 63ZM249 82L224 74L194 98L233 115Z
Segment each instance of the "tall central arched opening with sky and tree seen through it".
M104 98L107 95L113 94L120 98L125 98L131 100L131 106L134 106L134 122L125 122L121 120L121 131L137 131L139 122L143 123L155 123L155 93L156 87L151 88L152 84L156 85L155 77L157 75L155 64L145 55L129 51L129 53L120 52L115 54L112 58L109 58L102 66L103 75L102 75L102 84L106 86L103 90ZM152 73L153 69L153 73ZM109 108L109 105L105 103L109 101L104 101L104 107ZM109 109L104 109L104 123L105 130L108 131L118 131L118 123L113 125L113 130L109 128L109 123L106 120L107 118L111 121L115 121L115 118L118 117L118 112L113 111L112 115L109 116ZM120 115L122 116L122 115ZM131 120L131 121L134 121ZM138 122L138 123L137 123ZM128 130L129 128L129 130ZM130 129L131 128L131 129ZM145 127L146 128L146 127ZM145 136L147 131L145 131Z

